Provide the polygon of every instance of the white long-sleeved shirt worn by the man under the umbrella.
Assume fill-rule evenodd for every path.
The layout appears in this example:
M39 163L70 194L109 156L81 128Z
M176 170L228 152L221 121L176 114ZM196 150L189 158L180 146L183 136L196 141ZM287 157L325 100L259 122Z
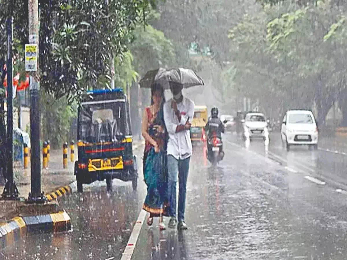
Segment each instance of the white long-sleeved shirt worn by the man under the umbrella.
M177 109L181 113L181 121L178 121L174 110L171 108L171 101L172 99L169 99L165 102L163 108L164 121L169 133L167 154L174 156L177 160L183 160L192 156L193 148L191 136L189 130L176 133L176 128L179 124L186 124L188 117L188 122L192 123L194 116L194 102L183 97L182 102L177 104Z

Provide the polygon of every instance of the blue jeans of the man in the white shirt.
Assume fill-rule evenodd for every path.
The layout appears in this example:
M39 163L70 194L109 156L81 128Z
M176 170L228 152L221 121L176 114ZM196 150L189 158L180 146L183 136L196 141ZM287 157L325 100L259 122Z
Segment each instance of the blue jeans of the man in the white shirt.
M177 160L174 156L168 155L168 194L169 211L171 217L176 218L176 183L178 179L178 221L184 221L184 211L186 208L186 186L189 172L190 157L184 160ZM178 177L178 178L177 178Z

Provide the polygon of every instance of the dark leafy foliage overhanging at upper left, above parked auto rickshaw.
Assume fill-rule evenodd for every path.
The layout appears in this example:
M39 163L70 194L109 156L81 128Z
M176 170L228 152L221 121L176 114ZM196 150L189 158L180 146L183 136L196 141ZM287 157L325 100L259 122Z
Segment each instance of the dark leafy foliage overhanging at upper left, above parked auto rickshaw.
M123 58L138 24L145 24L154 0L97 1L40 0L39 60L41 86L69 103L98 87L110 74L111 57ZM5 30L8 1L0 1L0 26ZM28 39L28 1L16 3L14 49L23 51ZM5 57L6 34L0 35L0 58Z

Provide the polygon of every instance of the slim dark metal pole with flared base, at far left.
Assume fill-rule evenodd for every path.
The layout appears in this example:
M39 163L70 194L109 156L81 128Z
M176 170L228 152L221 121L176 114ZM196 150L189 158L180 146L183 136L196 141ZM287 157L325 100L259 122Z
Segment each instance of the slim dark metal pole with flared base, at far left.
M2 193L4 199L18 199L18 190L13 180L13 0L9 1L7 19L7 182Z

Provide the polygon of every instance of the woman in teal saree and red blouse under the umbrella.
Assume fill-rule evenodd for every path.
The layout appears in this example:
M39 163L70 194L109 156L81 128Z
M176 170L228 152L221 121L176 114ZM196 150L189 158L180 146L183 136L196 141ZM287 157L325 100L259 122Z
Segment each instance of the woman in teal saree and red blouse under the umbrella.
M143 209L150 213L147 224L153 224L153 217L159 218L159 229L165 229L162 216L166 216L166 140L163 104L164 90L159 84L151 88L152 104L146 107L142 118L142 136L145 138L143 156L144 181L147 195Z

